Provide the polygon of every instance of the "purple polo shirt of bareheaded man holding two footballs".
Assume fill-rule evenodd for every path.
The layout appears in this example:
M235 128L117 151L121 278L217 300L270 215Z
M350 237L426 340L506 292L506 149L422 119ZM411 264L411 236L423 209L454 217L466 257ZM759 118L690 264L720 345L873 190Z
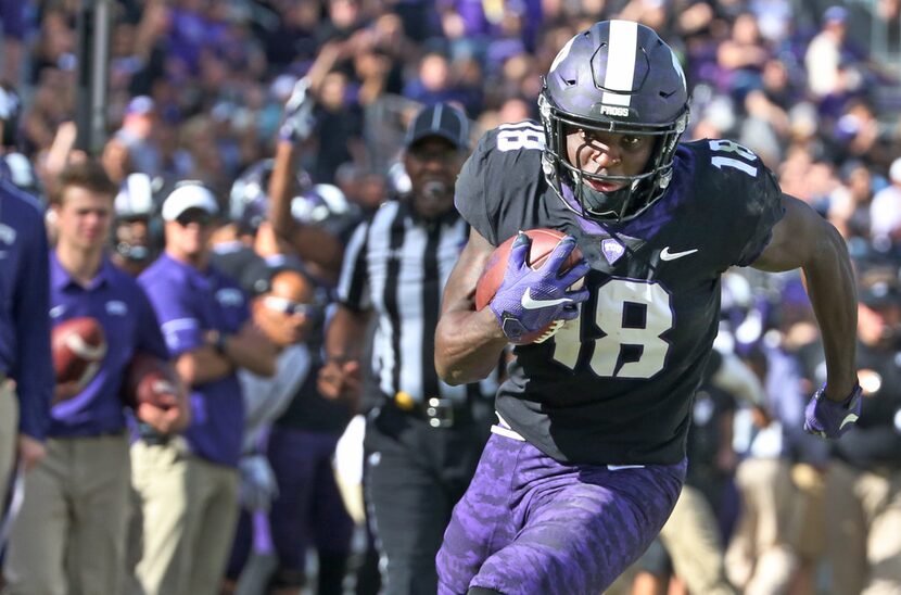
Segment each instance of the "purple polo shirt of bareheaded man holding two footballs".
M51 409L48 435L89 436L125 429L119 391L137 351L168 359L156 316L138 282L103 258L86 287L50 253L50 318L53 326L77 318L96 318L106 334L106 356L84 391Z

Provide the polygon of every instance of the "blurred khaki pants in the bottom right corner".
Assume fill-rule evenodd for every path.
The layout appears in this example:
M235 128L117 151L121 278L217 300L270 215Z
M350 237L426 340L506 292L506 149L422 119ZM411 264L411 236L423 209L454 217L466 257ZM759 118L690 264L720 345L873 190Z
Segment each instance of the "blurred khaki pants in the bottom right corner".
M901 593L901 470L877 473L833 463L826 519L836 595Z

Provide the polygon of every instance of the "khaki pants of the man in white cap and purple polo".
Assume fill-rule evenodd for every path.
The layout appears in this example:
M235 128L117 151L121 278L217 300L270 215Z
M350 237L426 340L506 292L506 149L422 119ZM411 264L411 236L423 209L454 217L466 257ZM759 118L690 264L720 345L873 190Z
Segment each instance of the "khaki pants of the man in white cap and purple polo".
M143 517L138 593L217 594L238 518L238 471L191 455L180 438L139 441L131 461Z

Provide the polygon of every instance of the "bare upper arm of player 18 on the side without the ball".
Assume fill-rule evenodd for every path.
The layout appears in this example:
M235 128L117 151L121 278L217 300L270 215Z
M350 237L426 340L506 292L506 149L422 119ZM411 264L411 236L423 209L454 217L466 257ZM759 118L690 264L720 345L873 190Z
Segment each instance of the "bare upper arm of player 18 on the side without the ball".
M824 239L826 221L810 205L788 194L782 195L782 203L785 215L773 227L773 237L753 268L776 273L802 267Z

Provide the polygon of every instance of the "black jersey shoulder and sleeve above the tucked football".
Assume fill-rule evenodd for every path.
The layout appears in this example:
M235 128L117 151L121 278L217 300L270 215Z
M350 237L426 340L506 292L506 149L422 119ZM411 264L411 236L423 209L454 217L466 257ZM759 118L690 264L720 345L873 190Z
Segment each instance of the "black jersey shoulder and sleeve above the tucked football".
M500 214L540 193L544 148L540 124L504 124L485 132L464 164L455 189L457 210L491 243L498 243Z

